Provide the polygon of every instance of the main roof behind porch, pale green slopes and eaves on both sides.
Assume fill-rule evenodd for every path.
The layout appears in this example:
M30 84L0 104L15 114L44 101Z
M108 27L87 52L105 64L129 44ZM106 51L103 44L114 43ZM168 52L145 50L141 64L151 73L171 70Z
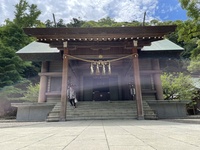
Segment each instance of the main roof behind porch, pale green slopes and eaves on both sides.
M147 55L147 57L150 57L149 53L154 54L154 52L161 53L160 55L163 56L168 55L168 52L171 51L170 54L176 55L177 51L179 53L182 50L184 50L182 47L167 39L152 42L151 46L144 46L142 48L143 56ZM41 42L32 42L16 53L24 60L51 61L61 59L60 50L51 48L49 44ZM155 56L158 56L158 54Z

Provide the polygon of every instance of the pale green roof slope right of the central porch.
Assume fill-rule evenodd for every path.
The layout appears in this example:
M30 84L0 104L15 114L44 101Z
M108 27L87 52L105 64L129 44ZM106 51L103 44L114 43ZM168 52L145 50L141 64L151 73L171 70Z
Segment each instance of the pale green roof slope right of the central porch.
M151 43L151 46L144 46L142 51L177 51L184 50L184 48L178 46L177 44L171 42L168 39L155 41Z

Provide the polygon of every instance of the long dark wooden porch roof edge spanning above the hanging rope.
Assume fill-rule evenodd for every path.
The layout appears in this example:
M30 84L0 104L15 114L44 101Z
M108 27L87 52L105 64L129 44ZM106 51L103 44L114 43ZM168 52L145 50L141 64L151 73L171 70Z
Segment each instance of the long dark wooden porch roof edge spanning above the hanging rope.
M101 28L24 28L27 35L38 39L136 39L162 37L174 32L172 26L101 27Z

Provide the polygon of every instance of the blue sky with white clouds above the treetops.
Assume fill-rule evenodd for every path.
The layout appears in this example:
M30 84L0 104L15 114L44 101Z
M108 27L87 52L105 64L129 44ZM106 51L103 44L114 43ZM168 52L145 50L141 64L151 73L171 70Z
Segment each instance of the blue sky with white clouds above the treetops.
M14 5L19 0L0 0L0 24L4 20L14 18ZM142 22L146 11L146 21L152 19L160 21L187 20L186 11L182 10L178 0L27 0L29 4L36 4L42 11L39 19L45 22L63 19L65 23L72 18L82 20L99 20L107 16L115 21Z

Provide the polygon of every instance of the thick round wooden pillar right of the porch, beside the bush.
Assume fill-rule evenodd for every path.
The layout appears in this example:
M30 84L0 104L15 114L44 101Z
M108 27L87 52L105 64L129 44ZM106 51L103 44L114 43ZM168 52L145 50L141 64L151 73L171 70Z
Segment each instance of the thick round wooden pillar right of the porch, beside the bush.
M152 68L153 68L153 70L160 71L160 65L159 65L158 59L152 59ZM156 99L164 100L160 73L154 74L153 78L154 78L154 85L155 85L155 89L156 89Z

